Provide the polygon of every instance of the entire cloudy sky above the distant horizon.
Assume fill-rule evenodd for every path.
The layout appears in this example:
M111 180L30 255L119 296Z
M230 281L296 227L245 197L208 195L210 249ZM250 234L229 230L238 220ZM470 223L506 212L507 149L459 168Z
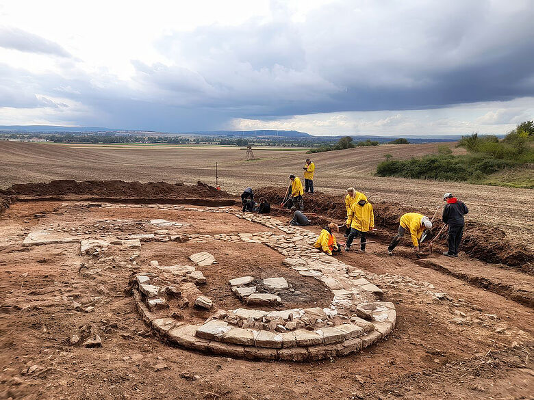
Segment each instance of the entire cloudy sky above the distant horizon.
M0 3L0 124L505 133L534 118L531 0Z

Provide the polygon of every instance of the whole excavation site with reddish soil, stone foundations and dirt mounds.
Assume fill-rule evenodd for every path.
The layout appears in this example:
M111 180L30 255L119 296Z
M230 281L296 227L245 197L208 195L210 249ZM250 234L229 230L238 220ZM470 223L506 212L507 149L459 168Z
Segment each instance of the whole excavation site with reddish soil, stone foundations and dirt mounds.
M291 226L284 191L255 189L268 214L200 182L0 191L0 398L530 398L529 248L479 225L458 258L388 256L407 211L377 202L366 252L329 256L342 196Z

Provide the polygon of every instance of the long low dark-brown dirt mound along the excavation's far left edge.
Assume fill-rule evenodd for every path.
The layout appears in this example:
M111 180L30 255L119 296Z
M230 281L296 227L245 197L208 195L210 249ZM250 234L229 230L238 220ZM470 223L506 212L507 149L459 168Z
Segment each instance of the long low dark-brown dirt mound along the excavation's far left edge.
M228 198L225 191L201 183L184 185L183 183L166 182L125 182L125 181L51 181L50 183L26 183L13 185L4 191L14 196L64 196L67 194L88 194L92 196L110 197L211 197Z

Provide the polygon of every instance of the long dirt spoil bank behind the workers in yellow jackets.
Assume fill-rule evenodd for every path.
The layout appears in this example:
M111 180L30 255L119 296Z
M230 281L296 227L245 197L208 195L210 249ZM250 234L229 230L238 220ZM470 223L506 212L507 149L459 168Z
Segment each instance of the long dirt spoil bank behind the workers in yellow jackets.
M275 206L279 206L283 201L284 194L285 189L279 187L268 186L255 189L257 198L263 196ZM316 192L313 196L305 197L305 211L307 213L316 213L331 219L333 222L342 224L346 218L344 197ZM390 230L391 235L398 229L398 220L404 213L418 212L432 217L435 212L435 210L429 209L413 209L398 203L374 203L372 198L369 199L373 203L374 224L381 230L384 228ZM434 220L435 232L439 231L443 226L439 217L440 215ZM319 220L323 222L322 218L319 218ZM389 240L391 235L383 237L383 239ZM379 234L379 236L383 235ZM505 232L498 228L468 221L463 235L462 250L470 256L487 263L503 263L511 267L520 267L522 271L529 274L533 273L534 253L526 248L525 245L512 243L506 237Z

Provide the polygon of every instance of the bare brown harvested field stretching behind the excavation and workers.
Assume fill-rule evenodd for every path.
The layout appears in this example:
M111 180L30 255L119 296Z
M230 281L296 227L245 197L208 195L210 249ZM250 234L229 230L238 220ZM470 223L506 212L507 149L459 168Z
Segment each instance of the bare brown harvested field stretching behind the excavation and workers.
M14 183L53 179L166 181L219 184L238 194L246 186L283 186L290 173L301 175L307 157L316 163L316 190L341 194L349 186L372 201L399 202L435 209L450 191L470 206L470 218L498 226L518 243L534 246L533 191L466 183L419 181L372 176L384 155L409 159L437 152L440 144L383 145L305 155L302 151L254 149L255 161L244 161L244 150L226 147L100 146L0 142L0 188ZM450 144L453 146L453 144ZM455 149L455 152L461 150Z

